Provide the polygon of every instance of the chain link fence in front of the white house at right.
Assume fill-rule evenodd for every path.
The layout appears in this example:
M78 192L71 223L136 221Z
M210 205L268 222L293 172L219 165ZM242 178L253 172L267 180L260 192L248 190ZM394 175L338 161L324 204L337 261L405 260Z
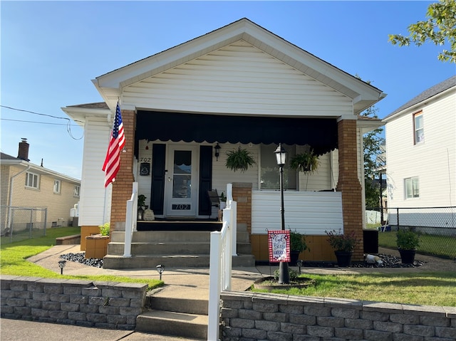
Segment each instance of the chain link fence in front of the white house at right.
M456 206L366 208L366 224L378 227L379 242L395 246L395 232L410 229L420 234L418 252L456 259Z

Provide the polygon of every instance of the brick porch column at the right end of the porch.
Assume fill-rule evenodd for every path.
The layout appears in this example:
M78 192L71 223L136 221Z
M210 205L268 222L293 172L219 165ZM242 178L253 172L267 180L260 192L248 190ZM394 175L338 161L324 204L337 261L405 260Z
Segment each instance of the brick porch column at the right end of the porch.
M358 178L356 120L340 120L337 124L339 177L337 191L342 192L343 231L355 232L363 240L363 191ZM363 243L353 252L353 261L363 261Z

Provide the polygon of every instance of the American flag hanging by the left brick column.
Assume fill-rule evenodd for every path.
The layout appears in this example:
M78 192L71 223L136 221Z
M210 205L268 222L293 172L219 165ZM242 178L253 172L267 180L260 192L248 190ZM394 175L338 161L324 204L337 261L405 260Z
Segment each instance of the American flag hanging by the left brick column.
M120 151L123 147L125 147L125 135L123 135L122 114L120 113L119 103L117 103L113 133L109 140L108 152L106 152L105 163L103 164L103 171L106 173L105 187L115 181L115 175L117 175L120 168Z

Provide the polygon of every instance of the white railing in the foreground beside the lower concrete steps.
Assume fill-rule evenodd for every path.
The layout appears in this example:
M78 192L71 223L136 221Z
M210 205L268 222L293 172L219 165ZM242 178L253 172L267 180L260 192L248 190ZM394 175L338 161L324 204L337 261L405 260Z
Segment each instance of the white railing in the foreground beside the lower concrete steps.
M227 184L227 208L223 210L222 231L211 232L209 261L209 307L207 340L219 340L220 293L231 290L232 256L236 255L237 203L232 184ZM233 245L234 243L234 245Z

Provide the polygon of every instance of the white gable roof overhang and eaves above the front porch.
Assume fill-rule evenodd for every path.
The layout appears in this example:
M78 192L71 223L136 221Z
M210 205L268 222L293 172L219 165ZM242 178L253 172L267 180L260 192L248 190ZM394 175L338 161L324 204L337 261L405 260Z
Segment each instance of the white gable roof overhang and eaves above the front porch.
M123 68L100 75L92 82L110 110L114 112L124 87L239 40L246 41L277 60L291 65L296 70L353 99L355 114L385 97L385 94L373 85L326 63L246 18ZM133 110L134 108L128 109Z

